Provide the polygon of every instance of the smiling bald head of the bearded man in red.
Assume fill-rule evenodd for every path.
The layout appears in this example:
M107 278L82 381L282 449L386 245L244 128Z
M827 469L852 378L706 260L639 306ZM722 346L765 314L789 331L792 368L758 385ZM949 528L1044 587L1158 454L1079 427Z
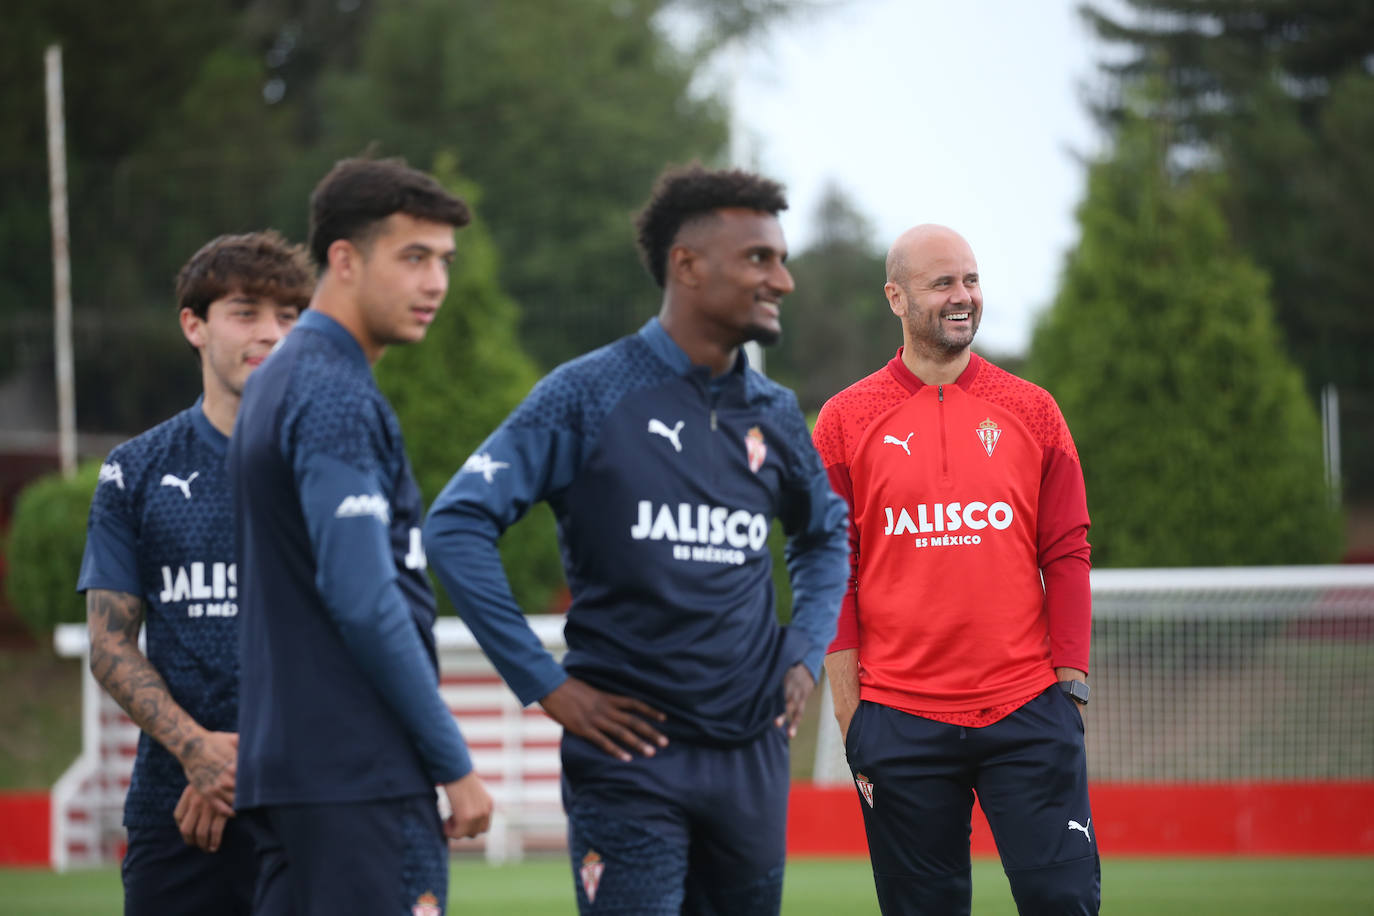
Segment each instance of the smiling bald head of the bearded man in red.
M929 227L904 239L896 254L883 291L901 319L905 346L936 360L967 350L982 320L973 249L956 232Z

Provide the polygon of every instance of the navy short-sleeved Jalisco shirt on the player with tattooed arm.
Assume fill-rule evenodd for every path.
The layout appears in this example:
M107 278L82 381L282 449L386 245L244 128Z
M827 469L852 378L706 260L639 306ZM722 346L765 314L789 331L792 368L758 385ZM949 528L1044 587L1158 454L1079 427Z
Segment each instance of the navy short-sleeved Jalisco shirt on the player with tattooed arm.
M216 732L235 731L239 692L227 444L198 398L110 452L91 500L77 578L80 592L143 600L148 662L172 699ZM170 825L183 791L181 764L140 732L124 824Z

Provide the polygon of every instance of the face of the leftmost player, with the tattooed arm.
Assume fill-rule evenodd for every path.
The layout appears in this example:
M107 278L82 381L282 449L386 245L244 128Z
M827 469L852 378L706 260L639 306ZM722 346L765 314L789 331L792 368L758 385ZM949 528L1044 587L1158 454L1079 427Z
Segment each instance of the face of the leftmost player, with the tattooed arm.
M294 305L238 290L210 302L203 319L188 308L181 309L181 331L201 352L206 398L239 398L249 374L261 365L298 317L301 310Z

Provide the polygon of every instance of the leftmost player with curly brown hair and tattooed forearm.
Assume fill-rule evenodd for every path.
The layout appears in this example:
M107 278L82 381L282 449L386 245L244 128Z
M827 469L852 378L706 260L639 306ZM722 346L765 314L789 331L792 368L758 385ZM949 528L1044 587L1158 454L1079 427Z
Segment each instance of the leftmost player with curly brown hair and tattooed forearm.
M124 805L131 916L236 915L253 902L253 843L231 820L239 619L224 455L245 380L313 286L305 250L276 232L224 235L196 251L176 301L203 393L100 467L77 588L91 672L143 729Z

